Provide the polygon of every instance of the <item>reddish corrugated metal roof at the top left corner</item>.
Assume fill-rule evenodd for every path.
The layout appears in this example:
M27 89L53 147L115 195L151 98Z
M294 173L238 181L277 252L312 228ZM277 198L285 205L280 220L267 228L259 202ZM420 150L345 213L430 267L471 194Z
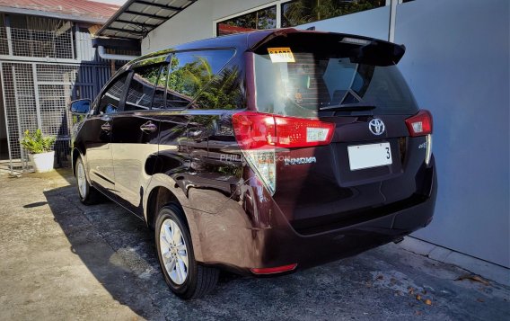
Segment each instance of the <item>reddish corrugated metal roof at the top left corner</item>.
M98 1L90 0L0 0L0 12L18 9L20 13L33 11L34 14L40 13L59 13L69 16L75 16L78 21L105 22L110 16L119 10L119 5L102 4ZM41 14L48 15L48 14ZM87 19L90 18L90 19Z

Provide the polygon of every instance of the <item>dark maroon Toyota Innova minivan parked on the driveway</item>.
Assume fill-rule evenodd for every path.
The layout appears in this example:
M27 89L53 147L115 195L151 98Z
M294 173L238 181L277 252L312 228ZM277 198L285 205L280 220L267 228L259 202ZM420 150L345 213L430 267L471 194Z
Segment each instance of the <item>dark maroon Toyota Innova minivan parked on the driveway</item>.
M430 223L432 116L396 64L405 48L284 29L137 58L75 101L73 165L155 230L181 298L221 269L291 272L398 241Z

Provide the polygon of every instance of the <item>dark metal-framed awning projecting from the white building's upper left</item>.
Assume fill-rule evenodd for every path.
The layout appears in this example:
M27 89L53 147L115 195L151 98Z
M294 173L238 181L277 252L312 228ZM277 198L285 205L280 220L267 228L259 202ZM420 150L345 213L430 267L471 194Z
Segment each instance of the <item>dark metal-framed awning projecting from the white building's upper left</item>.
M96 35L140 40L195 2L197 0L128 0Z

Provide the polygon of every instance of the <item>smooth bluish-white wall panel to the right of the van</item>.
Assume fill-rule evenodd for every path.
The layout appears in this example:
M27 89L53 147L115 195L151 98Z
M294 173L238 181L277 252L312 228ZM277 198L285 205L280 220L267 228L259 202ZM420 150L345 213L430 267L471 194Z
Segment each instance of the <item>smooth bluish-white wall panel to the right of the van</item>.
M510 267L509 2L416 0L397 8L399 67L434 114L435 218L415 236Z

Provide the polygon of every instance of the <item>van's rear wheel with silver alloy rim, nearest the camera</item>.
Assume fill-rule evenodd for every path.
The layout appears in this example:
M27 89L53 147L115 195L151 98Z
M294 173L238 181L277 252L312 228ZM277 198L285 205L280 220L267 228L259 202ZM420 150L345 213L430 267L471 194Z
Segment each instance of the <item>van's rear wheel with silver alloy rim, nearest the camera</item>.
M198 299L215 288L219 270L195 261L189 228L176 204L164 206L155 224L155 242L164 281L181 299Z

